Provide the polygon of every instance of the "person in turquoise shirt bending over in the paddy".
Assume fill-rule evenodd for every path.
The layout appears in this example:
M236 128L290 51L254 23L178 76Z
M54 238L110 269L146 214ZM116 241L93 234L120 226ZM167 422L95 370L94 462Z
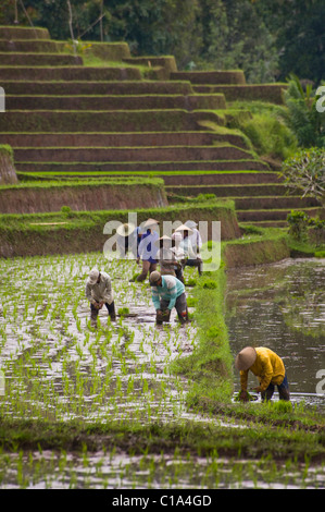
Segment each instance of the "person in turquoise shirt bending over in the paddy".
M152 302L157 312L157 324L168 321L173 307L176 307L182 324L188 320L185 287L174 276L162 276L157 270L150 273Z

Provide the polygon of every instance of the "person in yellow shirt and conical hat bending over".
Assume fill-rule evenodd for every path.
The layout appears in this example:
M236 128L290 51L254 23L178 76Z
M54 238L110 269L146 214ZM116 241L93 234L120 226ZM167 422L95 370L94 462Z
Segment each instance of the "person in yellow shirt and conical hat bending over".
M248 401L247 380L251 370L260 380L254 391L261 393L262 400L271 400L274 387L277 386L279 400L290 400L289 385L283 359L272 350L264 346L246 346L235 359L235 367L240 371L240 400Z

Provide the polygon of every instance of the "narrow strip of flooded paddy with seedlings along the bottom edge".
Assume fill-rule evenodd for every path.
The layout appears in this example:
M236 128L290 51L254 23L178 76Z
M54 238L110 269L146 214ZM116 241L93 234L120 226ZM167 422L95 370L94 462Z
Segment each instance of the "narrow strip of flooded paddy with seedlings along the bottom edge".
M325 481L324 467L308 463L103 451L5 454L0 477L11 489L313 489Z

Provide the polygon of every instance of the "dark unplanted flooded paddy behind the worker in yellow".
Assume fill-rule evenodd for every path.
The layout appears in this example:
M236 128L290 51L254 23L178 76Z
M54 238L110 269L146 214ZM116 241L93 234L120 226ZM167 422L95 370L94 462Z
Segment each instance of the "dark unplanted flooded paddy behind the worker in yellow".
M292 402L324 405L325 260L288 259L229 270L226 304L234 356L246 345L270 348L284 359ZM236 370L235 376L238 389Z

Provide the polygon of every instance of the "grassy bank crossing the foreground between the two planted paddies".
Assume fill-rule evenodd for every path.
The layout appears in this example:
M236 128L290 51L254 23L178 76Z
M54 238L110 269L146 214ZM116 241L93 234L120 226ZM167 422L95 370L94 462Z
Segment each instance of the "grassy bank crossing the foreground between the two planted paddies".
M266 407L265 407L266 409ZM133 450L134 454L179 453L186 455L211 455L213 452L222 456L263 458L270 456L277 461L321 461L325 454L322 446L324 435L318 431L290 428L270 429L262 424L252 428L238 429L232 427L207 425L163 425L152 424L103 424L92 423L87 426L76 422L52 423L41 420L2 420L0 423L0 443L4 449L16 450L72 450L82 451L87 447L89 452L110 449L114 446L120 450Z

